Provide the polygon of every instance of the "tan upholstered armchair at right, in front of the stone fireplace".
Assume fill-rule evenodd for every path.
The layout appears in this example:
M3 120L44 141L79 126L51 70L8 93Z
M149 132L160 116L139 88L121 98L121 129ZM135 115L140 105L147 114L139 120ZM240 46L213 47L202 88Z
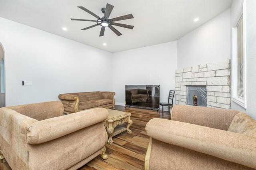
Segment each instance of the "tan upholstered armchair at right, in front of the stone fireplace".
M148 170L252 170L256 121L236 110L175 105L172 119L151 119Z

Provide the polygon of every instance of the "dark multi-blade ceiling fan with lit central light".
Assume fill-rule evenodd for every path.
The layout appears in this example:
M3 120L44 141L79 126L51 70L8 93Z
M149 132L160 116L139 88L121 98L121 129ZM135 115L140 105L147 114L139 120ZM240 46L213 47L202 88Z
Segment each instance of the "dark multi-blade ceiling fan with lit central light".
M94 24L92 26L83 28L81 30L87 30L89 28L93 28L93 27L96 27L96 26L101 26L100 37L104 36L104 32L105 32L106 27L110 28L110 30L112 30L117 36L121 36L122 34L118 30L116 30L116 28L114 28L113 26L129 28L129 29L133 29L133 27L134 27L134 26L130 26L130 25L126 25L126 24L120 24L120 23L115 22L115 21L121 21L121 20L127 20L127 19L134 18L132 16L132 14L128 14L128 15L119 16L119 17L116 17L116 18L109 19L108 17L110 16L110 14L111 14L111 12L114 8L114 6L112 6L110 4L107 4L106 8L101 9L102 13L104 14L104 16L102 18L100 18L99 16L97 16L93 12L89 11L88 9L84 8L83 6L78 6L78 8L80 8L80 9L84 10L85 12L88 12L92 16L96 17L97 20L84 20L84 19L75 19L75 18L70 18L70 19L72 21L96 22L97 24Z

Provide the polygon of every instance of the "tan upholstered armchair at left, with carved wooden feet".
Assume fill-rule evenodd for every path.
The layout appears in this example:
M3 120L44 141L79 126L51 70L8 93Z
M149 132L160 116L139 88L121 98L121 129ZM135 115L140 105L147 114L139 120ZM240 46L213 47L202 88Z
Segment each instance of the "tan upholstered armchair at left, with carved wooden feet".
M0 159L12 170L76 170L108 140L104 108L63 115L60 101L0 109Z

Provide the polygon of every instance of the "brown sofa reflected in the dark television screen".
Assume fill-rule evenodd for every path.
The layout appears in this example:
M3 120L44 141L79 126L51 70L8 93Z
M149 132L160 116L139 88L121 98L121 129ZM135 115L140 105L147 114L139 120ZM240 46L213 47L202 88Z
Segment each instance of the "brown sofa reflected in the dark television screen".
M132 105L139 101L148 100L148 89L131 89L125 91L125 100L127 105Z

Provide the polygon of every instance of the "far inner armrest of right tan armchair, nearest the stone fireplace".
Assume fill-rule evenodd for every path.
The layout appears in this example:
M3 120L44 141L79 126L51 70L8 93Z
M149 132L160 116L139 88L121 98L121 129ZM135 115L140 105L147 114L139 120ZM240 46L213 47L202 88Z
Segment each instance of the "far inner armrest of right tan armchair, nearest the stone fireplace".
M172 108L171 120L228 130L234 116L239 112L240 111L232 109L174 105Z

